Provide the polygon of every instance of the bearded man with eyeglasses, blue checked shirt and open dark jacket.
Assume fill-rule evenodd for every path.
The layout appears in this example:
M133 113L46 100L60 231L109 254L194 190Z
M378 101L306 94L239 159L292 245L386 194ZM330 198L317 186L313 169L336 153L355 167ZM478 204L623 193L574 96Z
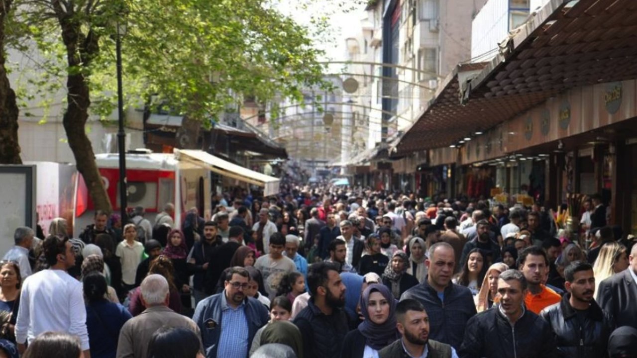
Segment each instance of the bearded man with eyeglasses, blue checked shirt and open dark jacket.
M268 310L248 297L250 273L234 267L225 276L225 289L197 304L192 319L201 331L206 358L245 358L259 328L269 319Z

